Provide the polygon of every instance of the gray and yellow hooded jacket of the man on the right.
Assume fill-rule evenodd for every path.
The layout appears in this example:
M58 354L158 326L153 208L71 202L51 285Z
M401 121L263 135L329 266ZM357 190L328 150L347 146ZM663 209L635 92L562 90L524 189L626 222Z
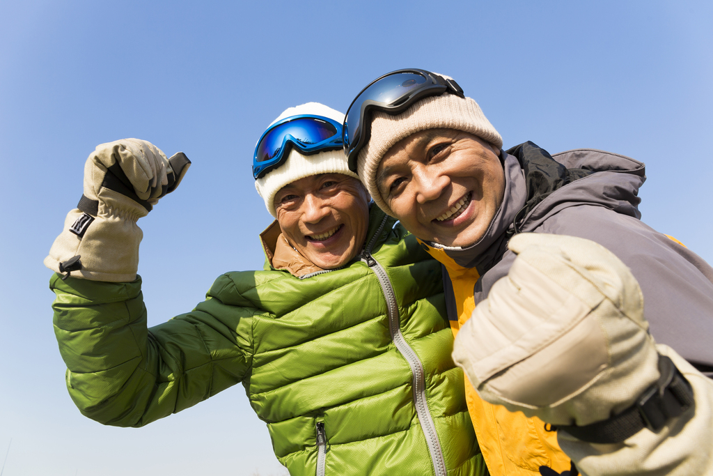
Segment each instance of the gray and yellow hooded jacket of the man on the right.
M514 233L578 236L604 245L632 270L657 343L713 377L713 268L640 221L644 164L592 149L550 156L533 143L501 152L501 161L505 198L486 235L466 248L424 243L443 264L453 333L507 275L515 259L507 243ZM555 432L546 432L543 422L481 400L471 385L466 400L491 474L537 475L541 465L569 469Z

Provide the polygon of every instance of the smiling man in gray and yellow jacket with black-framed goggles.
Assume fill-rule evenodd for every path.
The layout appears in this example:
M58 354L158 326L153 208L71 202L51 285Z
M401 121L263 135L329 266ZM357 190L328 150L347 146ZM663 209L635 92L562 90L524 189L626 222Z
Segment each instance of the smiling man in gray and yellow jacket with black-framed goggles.
M558 443L583 474L713 474L713 269L639 220L642 163L503 151L418 69L370 83L344 128L351 170L443 264L491 475L576 474Z

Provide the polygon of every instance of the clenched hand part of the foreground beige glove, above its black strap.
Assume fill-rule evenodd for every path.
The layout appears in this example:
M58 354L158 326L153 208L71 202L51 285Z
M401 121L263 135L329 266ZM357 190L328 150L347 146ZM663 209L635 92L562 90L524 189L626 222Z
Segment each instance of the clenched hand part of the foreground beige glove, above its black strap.
M630 407L660 376L630 270L583 238L523 233L508 247L518 257L453 349L481 397L554 425Z

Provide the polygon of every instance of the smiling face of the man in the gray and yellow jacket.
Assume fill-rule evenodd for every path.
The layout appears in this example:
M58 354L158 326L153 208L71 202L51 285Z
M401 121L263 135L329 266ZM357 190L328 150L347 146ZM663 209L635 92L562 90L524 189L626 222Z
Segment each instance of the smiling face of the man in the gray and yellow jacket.
M430 129L392 146L376 185L396 218L421 240L476 243L503 203L499 151L471 133Z

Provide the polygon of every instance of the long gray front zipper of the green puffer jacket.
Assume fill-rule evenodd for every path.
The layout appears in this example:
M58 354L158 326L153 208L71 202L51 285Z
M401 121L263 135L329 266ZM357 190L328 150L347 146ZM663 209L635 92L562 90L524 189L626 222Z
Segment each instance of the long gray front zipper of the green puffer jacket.
M371 249L374 247L376 242L376 237L379 236L381 230L386 224L386 219L381 222L379 231L374 235L374 239L371 240L369 246L361 254L361 260L369 266L371 270L374 271L376 277L379 278L379 284L381 285L381 292L384 293L384 298L386 298L386 313L389 317L389 331L391 332L391 340L394 341L396 349L399 350L401 355L404 356L406 362L409 363L411 368L411 375L414 378L414 405L416 405L416 415L419 416L419 421L421 422L421 430L424 432L426 437L426 443L429 446L429 452L431 453L431 462L434 465L434 472L436 476L447 476L446 472L446 462L443 459L443 450L441 450L441 442L438 441L438 434L436 434L436 426L434 425L433 417L431 417L431 412L429 411L429 405L426 401L426 379L424 378L424 366L421 364L418 355L411 348L409 343L404 339L404 335L401 333L401 325L399 323L399 305L396 302L396 295L394 295L394 288L391 286L391 280L389 280L389 275L386 274L384 267L376 261L373 255L371 255ZM319 461L319 460L318 460ZM319 468L319 463L317 465ZM317 472L319 476L319 470Z

